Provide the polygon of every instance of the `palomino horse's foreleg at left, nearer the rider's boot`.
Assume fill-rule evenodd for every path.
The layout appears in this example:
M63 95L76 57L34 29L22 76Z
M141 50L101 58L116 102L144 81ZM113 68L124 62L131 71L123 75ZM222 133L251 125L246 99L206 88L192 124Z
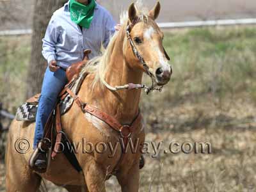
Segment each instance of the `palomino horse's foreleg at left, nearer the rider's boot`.
M86 186L89 192L106 192L106 172L95 161L88 162L83 169Z

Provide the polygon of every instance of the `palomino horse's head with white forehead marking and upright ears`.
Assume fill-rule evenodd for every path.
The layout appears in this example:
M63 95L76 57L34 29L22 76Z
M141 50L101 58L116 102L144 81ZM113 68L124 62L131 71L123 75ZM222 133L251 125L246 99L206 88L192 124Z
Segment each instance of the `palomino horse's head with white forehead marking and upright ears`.
M155 21L160 10L159 2L147 15L140 13L134 3L129 6L126 30L130 44L124 46L124 52L129 67L146 72L163 86L170 80L172 67L163 47L164 33Z

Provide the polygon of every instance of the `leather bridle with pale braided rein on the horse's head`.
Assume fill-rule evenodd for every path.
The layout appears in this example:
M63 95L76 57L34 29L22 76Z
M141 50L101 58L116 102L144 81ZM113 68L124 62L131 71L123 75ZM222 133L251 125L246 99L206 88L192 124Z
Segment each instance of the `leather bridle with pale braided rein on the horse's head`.
M134 56L136 56L136 58L140 61L141 65L143 66L144 70L146 71L147 75L150 77L151 79L151 85L148 87L145 84L133 84L133 83L129 83L129 84L125 84L123 86L115 86L112 87L110 86L108 83L106 83L106 81L102 81L103 84L111 91L118 91L118 90L133 90L133 89L145 89L145 93L147 93L147 95L150 92L153 91L158 91L161 92L163 90L163 86L157 86L156 83L156 77L154 76L154 74L152 74L152 72L150 72L149 67L147 65L147 63L145 62L143 56L141 56L140 52L138 51L138 49L136 48L132 38L131 38L131 30L132 28L135 26L135 24L137 24L139 22L139 19L134 20L134 22L132 22L131 24L127 24L127 28L126 28L126 35L127 35L127 40L129 40L129 43L132 47L132 52L134 54ZM170 60L170 57L168 56L168 54L166 53L166 51L164 50L164 54L167 58L167 60Z

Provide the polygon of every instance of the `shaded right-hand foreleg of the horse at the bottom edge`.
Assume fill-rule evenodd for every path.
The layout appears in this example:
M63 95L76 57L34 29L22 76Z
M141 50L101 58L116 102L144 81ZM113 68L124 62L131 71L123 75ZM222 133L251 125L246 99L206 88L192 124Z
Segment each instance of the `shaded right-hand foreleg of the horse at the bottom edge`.
M139 164L135 164L127 173L117 175L117 180L122 188L122 192L138 192L140 185Z

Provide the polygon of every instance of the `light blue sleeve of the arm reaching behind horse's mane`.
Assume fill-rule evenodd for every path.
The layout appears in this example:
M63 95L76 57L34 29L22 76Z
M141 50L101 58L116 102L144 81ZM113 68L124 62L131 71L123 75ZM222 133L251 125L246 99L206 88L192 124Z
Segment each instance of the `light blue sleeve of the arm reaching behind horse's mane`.
M116 26L116 22L113 19L112 15L110 13L107 13L106 15L107 17L105 22L105 37L103 42L105 48L108 46L111 36L115 33Z

